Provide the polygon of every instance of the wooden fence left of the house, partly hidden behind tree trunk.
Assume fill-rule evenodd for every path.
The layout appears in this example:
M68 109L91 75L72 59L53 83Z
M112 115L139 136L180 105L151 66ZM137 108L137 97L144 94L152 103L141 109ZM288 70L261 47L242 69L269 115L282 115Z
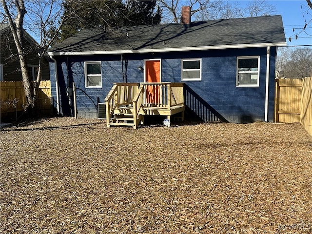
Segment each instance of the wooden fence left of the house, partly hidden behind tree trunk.
M40 81L36 109L40 113L51 114L51 82L50 80ZM8 117L14 112L23 111L26 103L24 88L21 81L0 82L0 105L1 118Z

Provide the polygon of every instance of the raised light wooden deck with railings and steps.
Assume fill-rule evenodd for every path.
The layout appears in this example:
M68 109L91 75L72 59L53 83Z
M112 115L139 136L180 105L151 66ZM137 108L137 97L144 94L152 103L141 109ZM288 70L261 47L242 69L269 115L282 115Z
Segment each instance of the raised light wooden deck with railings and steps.
M107 127L144 124L144 116L171 116L182 113L183 83L115 83L105 98Z

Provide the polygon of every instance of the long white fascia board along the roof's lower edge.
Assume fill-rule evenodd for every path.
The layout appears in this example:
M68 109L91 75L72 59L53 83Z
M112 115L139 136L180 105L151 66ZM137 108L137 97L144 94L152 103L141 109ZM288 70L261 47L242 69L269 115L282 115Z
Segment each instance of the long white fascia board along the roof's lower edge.
M74 55L118 55L118 54L142 54L159 52L179 52L179 51L198 51L198 50L217 50L217 49L240 49L268 46L285 46L286 42L277 43L256 43L256 44L235 44L235 45L214 45L196 47L178 47L161 49L141 49L141 50L105 50L105 51L75 51L75 52L48 52L49 56L74 56Z

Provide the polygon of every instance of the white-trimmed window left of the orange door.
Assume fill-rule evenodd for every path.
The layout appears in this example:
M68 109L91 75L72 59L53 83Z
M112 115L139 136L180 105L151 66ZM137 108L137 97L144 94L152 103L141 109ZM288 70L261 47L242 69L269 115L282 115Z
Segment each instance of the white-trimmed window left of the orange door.
M86 88L101 88L101 62L84 62L84 76Z

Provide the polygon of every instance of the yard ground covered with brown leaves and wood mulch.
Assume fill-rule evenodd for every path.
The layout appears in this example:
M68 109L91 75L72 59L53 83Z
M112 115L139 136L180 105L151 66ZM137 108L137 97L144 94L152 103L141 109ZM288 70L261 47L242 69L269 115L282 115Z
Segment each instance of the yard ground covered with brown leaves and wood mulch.
M0 132L0 233L312 233L300 124L106 128L51 118Z

